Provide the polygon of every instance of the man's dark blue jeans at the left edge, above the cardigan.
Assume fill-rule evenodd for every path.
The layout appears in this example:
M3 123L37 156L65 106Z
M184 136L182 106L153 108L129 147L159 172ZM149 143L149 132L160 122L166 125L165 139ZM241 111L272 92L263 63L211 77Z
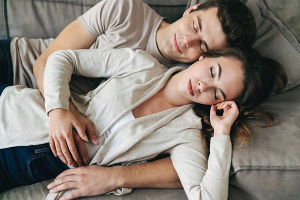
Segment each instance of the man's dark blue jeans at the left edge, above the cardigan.
M0 39L0 95L3 89L13 84L9 39Z

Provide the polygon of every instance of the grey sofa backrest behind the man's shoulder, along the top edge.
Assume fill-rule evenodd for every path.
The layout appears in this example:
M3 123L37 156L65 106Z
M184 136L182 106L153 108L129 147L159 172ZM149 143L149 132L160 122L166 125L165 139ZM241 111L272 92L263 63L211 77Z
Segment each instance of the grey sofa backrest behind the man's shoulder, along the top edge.
M56 37L71 21L101 0L4 0L0 1L0 39L24 36ZM187 0L143 0L158 14L175 21Z

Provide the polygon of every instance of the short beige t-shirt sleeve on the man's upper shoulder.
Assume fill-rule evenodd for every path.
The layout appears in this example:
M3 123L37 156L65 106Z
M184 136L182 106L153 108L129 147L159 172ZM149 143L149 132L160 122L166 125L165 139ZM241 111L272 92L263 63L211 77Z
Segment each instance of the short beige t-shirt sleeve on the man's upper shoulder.
M81 25L95 39L126 19L133 0L101 0L78 17Z

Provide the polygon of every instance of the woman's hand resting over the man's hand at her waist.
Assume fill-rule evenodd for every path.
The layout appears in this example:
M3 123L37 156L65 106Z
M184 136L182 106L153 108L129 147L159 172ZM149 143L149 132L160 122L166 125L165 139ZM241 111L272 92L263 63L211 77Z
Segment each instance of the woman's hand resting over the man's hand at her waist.
M91 126L91 124L90 124ZM75 131L73 130L75 129ZM92 128L92 127L91 127ZM90 129L90 128L89 128ZM88 141L88 138L84 132L79 121L76 117L69 111L61 108L53 109L49 111L49 143L51 150L55 156L58 157L66 164L69 165L83 165L82 160L89 162L89 158L86 151L86 146L84 141ZM76 132L79 137L76 139ZM79 157L77 147L83 148L83 153L85 157ZM83 140L81 140L83 139ZM81 140L81 141L78 141ZM79 145L79 146L78 146ZM87 158L86 158L87 157ZM74 162L74 160L76 162Z

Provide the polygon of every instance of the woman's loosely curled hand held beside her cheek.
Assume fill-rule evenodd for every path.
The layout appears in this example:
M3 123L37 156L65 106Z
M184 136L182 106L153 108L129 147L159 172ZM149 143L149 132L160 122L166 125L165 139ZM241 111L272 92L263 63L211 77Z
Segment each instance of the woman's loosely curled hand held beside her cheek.
M223 115L216 115L216 109L223 109ZM210 123L213 135L229 135L230 128L238 116L238 107L233 100L223 101L210 107Z

